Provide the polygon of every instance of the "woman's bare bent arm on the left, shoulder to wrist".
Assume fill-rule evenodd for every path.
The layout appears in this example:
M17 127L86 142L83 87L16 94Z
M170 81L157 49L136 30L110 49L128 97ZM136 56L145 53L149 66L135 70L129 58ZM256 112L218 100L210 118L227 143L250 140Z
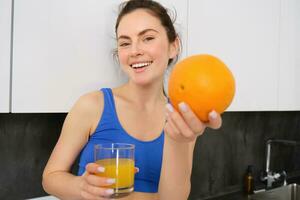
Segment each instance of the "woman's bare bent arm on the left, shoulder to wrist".
M84 95L76 102L65 119L59 140L45 167L43 187L47 193L60 199L82 199L86 177L72 175L70 168L88 141L99 112L102 113L102 93L100 96L99 93Z

